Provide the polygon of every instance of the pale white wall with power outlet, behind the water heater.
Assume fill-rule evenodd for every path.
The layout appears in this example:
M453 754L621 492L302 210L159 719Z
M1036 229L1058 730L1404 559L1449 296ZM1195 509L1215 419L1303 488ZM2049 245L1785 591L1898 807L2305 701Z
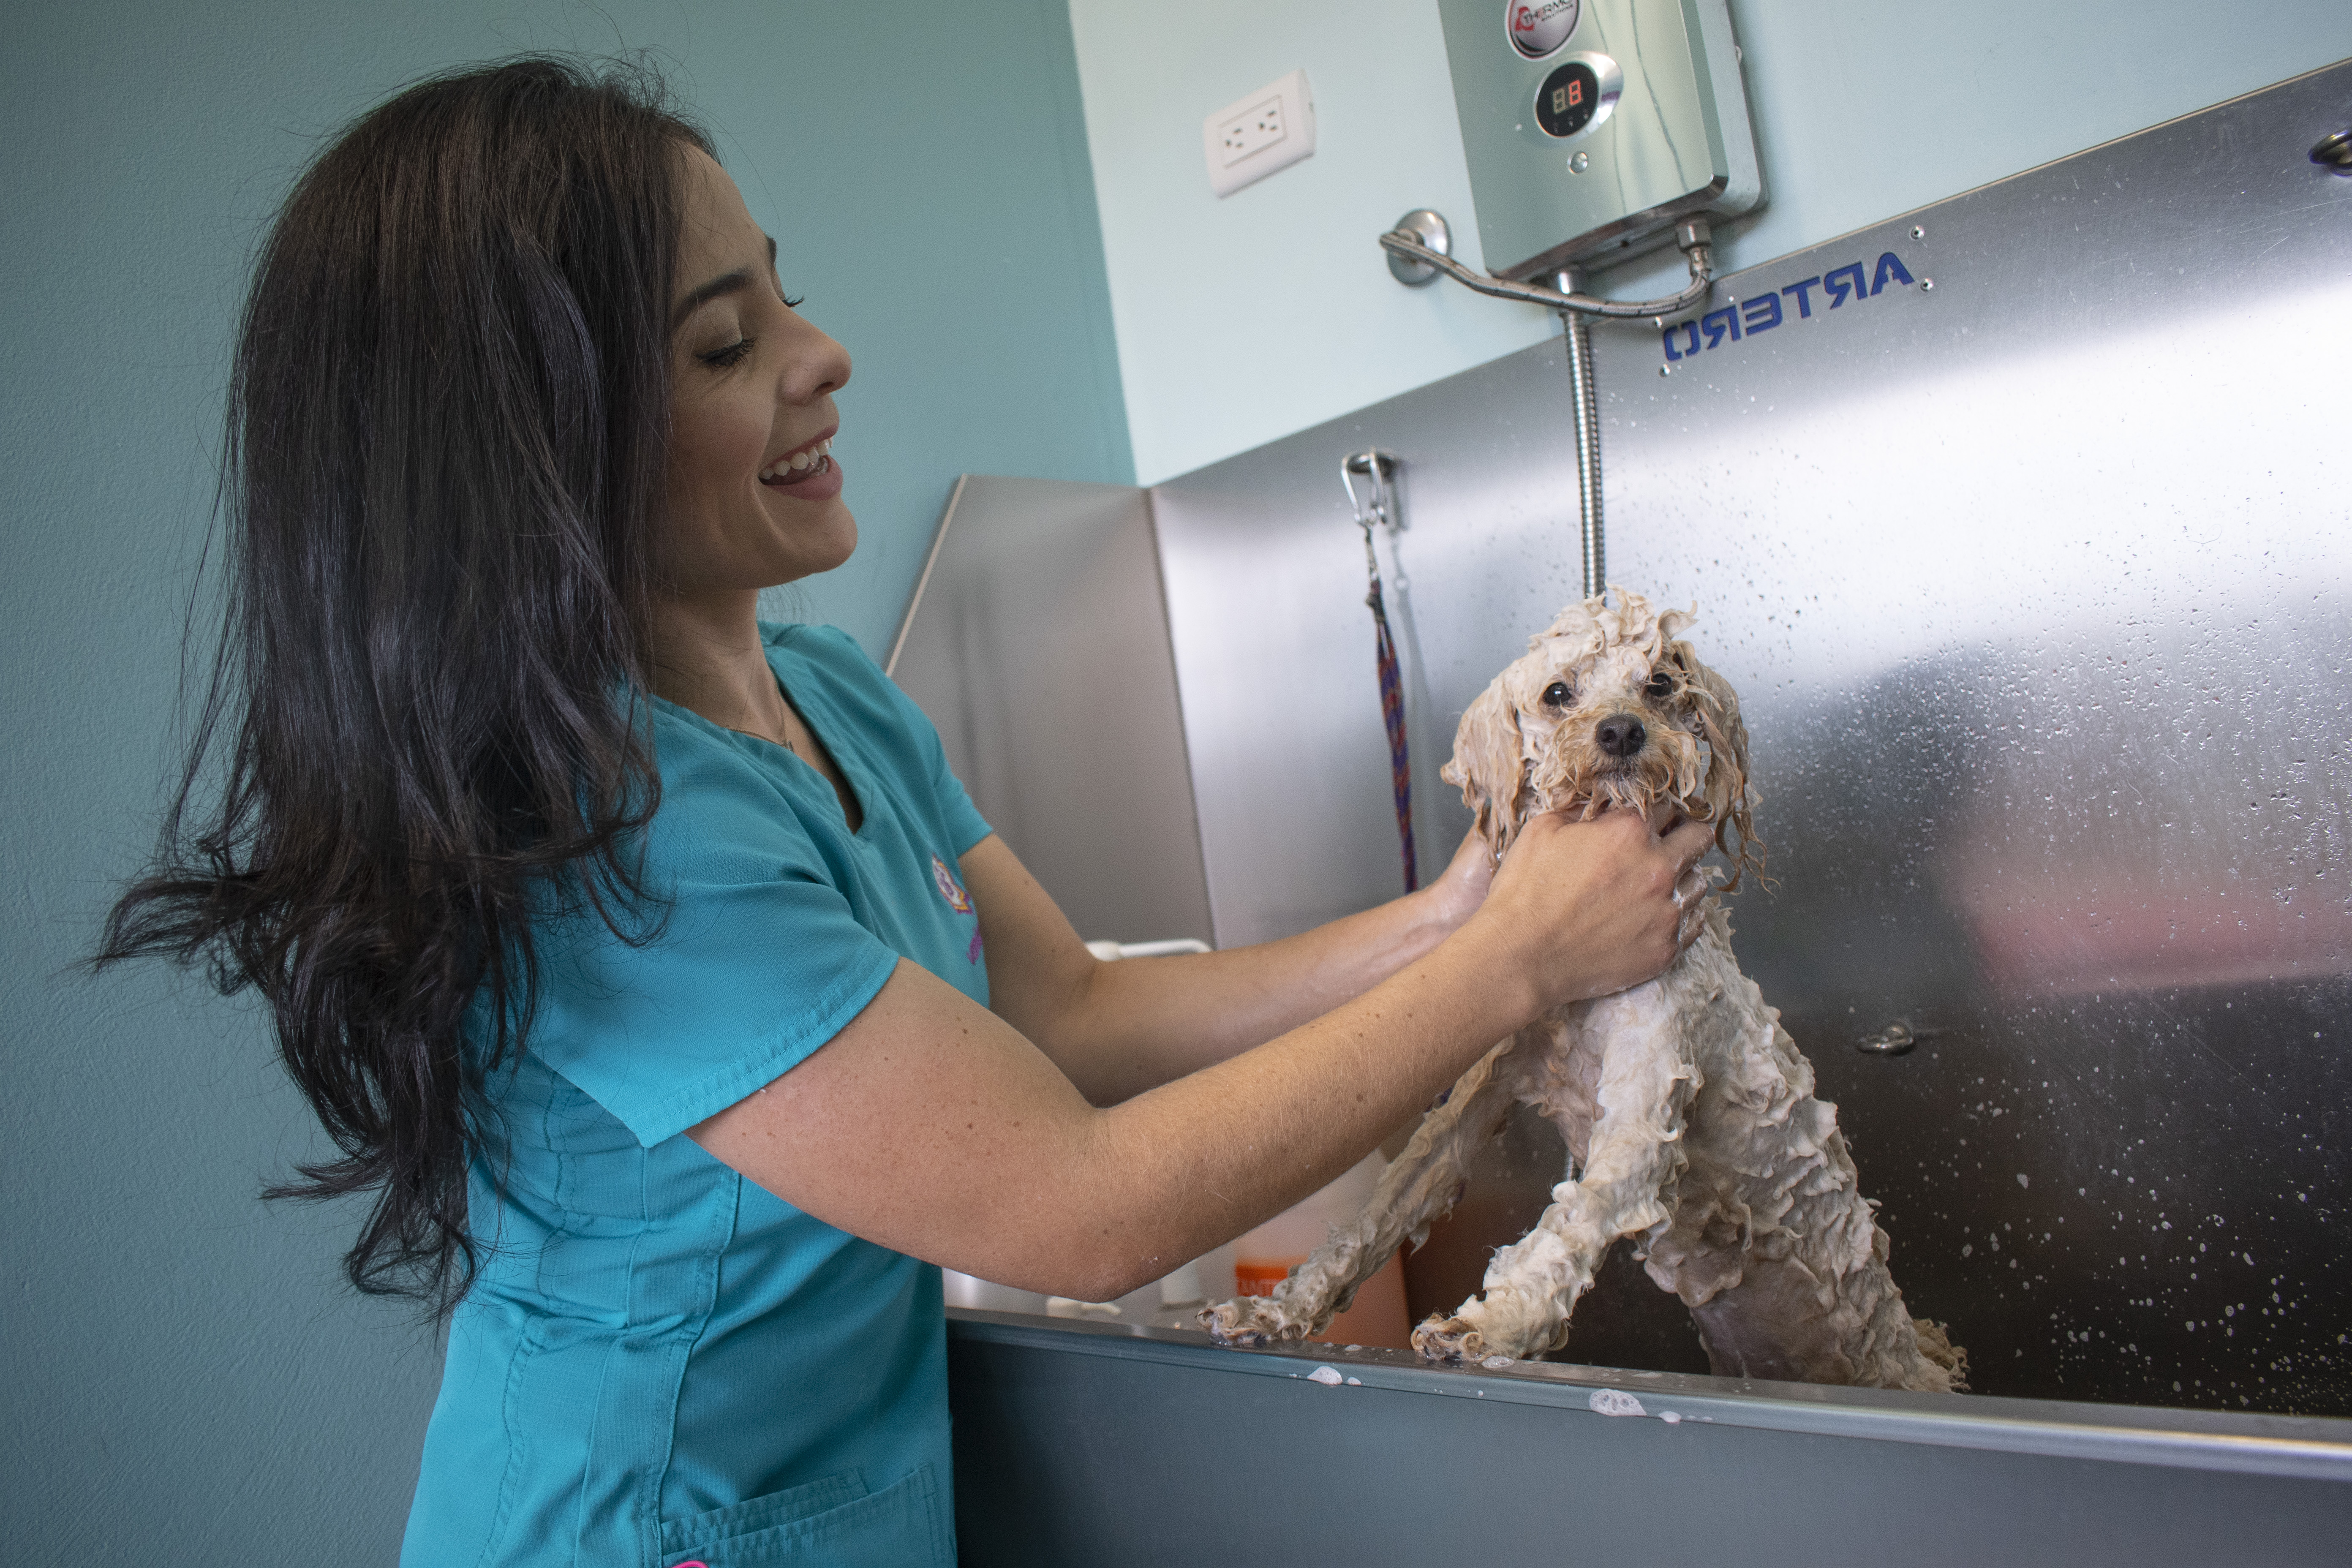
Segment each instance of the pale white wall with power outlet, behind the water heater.
M1731 12L1771 202L1717 230L1724 270L2352 56L2345 0ZM1374 242L1435 207L1477 263L1435 0L1070 0L1070 24L1138 482L1557 334L1534 306L1404 289ZM1209 195L1202 115L1301 66L1315 158ZM1679 275L1665 252L1599 284L1646 296Z

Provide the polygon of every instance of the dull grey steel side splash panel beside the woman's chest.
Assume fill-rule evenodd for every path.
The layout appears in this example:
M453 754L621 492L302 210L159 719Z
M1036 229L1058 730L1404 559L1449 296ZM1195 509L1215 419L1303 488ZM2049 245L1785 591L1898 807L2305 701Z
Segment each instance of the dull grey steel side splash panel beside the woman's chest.
M1141 489L967 475L891 677L1080 936L1209 936Z

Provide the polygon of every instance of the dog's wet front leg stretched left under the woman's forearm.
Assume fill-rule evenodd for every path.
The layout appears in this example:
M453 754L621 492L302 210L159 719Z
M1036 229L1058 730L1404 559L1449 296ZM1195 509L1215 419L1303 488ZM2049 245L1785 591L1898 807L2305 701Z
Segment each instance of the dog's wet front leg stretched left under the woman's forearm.
M1291 1269L1272 1295L1242 1295L1204 1307L1200 1326L1223 1345L1265 1345L1322 1333L1336 1312L1355 1300L1355 1288L1381 1272L1406 1239L1416 1246L1461 1197L1470 1157L1503 1131L1512 1105L1505 1058L1543 1025L1529 1025L1482 1056L1454 1081L1444 1105L1421 1119L1414 1140L1388 1161L1364 1211L1350 1225L1334 1225L1331 1239Z

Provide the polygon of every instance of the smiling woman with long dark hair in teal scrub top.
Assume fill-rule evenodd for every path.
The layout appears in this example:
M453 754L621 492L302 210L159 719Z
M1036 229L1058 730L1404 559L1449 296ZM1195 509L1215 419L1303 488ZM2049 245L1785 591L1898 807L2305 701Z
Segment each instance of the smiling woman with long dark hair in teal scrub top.
M856 644L755 618L856 543L847 381L626 75L414 87L261 256L228 783L106 957L263 992L343 1150L289 1192L449 1312L407 1563L948 1563L936 1265L1131 1291L1675 952L1708 832L1618 813L1096 964Z

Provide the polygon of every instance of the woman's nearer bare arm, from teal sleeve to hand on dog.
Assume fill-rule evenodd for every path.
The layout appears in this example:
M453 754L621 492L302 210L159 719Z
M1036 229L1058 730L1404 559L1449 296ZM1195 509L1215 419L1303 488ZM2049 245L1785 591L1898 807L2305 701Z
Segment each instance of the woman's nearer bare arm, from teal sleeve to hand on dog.
M1364 1157L1496 1039L1675 954L1708 830L1536 818L1461 931L1362 997L1110 1107L1009 1023L898 964L833 1041L691 1128L797 1208L1030 1291L1110 1300Z

